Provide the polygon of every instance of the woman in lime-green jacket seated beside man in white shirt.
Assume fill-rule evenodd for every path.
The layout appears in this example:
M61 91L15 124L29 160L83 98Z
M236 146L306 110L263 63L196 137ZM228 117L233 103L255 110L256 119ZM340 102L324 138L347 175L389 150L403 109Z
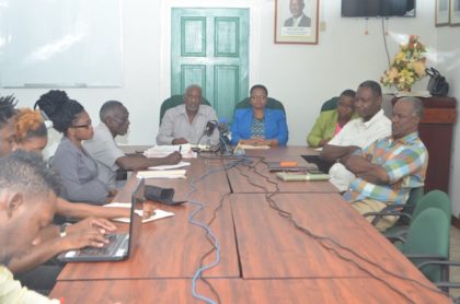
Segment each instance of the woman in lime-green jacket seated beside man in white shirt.
M337 108L324 110L314 122L313 129L307 137L310 147L325 145L350 119L358 115L355 113L355 91L345 90L338 97Z

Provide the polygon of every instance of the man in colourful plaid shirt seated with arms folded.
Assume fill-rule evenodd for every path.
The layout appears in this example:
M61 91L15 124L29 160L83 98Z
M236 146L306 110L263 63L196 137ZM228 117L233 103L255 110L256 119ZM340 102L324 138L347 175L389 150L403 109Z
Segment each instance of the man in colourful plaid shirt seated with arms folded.
M418 98L399 100L391 118L392 136L341 157L357 176L344 197L359 213L378 212L392 203L404 204L411 189L424 185L428 151L418 137L422 116ZM377 227L386 230L396 220L398 217L383 217Z

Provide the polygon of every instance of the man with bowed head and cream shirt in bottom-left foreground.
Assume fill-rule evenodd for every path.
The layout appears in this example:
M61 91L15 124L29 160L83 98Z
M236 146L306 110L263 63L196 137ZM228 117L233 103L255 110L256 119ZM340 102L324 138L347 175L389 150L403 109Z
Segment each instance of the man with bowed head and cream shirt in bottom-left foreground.
M39 155L19 151L0 159L0 303L59 303L21 287L5 267L50 223L59 188Z

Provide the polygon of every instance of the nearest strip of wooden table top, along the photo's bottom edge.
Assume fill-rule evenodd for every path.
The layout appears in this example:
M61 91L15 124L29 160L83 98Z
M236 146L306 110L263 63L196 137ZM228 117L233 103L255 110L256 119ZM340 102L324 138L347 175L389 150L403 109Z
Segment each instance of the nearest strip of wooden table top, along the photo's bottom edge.
M219 299L203 281L197 291L215 303L451 303L437 292L396 279L386 281L400 292L375 278L207 281ZM66 304L203 303L192 296L192 280L186 279L61 281L50 297L62 297Z

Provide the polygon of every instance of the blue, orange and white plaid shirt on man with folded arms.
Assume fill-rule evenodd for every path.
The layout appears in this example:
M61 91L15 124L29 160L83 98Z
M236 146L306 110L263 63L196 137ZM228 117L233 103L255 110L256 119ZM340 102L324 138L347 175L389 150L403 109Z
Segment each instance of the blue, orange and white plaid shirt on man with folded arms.
M412 188L424 185L428 166L428 151L418 137L410 133L401 139L380 139L357 154L371 157L372 164L381 165L390 177L389 185L376 185L356 178L344 197L348 201L366 198L387 203L405 203Z

